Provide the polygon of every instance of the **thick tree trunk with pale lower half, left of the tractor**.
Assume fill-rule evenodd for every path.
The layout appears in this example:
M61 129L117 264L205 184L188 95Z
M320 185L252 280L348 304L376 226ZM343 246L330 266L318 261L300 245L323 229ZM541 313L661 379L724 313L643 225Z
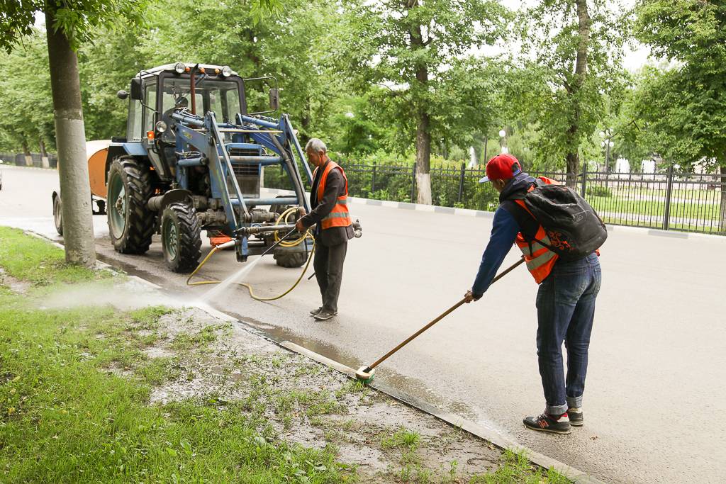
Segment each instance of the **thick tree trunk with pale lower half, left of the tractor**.
M61 29L54 32L54 2L46 4L45 14L58 149L58 176L63 200L65 260L68 263L92 266L96 262L96 251L78 58L76 52L70 48L65 33Z

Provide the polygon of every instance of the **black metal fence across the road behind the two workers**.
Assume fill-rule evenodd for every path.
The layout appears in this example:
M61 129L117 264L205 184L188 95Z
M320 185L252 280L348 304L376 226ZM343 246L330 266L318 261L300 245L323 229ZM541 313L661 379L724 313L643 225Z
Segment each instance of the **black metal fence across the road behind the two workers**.
M415 202L416 173L410 164L340 163L354 197ZM480 184L484 168L431 168L433 205L492 211L499 204L491 184ZM654 229L726 234L726 175L681 173L530 172L568 183L590 202L605 223ZM279 167L267 167L264 186L289 189Z

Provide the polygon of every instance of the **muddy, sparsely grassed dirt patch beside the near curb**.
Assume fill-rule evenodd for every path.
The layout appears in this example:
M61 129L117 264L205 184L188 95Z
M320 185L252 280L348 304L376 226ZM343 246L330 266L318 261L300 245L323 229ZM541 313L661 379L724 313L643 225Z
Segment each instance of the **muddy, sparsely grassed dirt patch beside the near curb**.
M133 330L133 329L131 329ZM143 336L149 329L138 329ZM150 403L242 402L269 438L332 447L365 483L466 482L497 469L501 451L346 375L197 308L160 317L144 349L171 361ZM159 359L161 361L161 359Z

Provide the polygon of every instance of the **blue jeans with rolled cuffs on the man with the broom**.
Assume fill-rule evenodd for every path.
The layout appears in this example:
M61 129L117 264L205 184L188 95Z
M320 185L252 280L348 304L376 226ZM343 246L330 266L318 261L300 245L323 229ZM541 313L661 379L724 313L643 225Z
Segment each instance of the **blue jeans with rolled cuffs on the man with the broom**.
M537 292L537 357L545 411L560 415L582 406L595 298L601 271L596 254L579 261L558 261ZM563 374L562 343L567 349Z

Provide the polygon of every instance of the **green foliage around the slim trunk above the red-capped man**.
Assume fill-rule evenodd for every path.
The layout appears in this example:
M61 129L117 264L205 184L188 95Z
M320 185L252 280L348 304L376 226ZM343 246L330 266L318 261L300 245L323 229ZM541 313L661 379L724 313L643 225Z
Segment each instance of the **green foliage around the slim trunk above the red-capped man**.
M617 97L626 80L620 65L627 17L604 0L583 1L587 12L577 3L542 0L520 19L523 52L534 60L523 62L515 99L531 109L537 157L560 168L566 157L579 157L605 117L606 97Z

